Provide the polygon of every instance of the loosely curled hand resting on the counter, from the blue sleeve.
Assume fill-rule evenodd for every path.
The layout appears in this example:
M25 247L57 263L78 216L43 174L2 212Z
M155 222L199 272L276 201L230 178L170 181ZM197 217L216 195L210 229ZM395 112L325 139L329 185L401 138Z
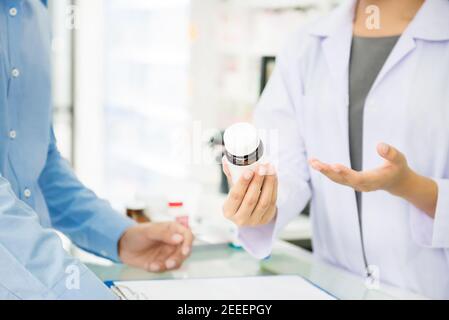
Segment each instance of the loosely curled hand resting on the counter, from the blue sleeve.
M123 263L151 272L177 269L192 250L189 228L176 222L142 223L125 231L119 241Z

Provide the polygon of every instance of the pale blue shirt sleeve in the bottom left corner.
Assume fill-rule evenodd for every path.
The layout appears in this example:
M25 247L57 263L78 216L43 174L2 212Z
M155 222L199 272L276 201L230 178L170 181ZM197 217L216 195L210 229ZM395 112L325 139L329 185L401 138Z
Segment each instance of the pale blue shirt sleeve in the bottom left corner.
M0 176L0 299L114 299Z

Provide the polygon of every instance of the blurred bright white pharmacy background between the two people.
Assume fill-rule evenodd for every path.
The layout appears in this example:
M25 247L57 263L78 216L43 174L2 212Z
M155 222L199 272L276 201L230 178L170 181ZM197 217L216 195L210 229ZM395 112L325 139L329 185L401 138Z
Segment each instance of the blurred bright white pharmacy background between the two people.
M338 2L50 0L61 152L122 213L158 220L182 202L194 223L224 225L214 141L251 119L289 35ZM310 246L308 218L282 236Z

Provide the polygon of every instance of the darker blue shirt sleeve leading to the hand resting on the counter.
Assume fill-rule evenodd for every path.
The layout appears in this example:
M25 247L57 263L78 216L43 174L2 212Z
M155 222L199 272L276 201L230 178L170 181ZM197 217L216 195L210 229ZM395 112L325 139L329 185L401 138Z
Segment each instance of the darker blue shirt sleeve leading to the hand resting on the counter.
M118 241L134 222L114 211L75 177L56 147L53 130L39 186L55 229L79 247L119 261Z

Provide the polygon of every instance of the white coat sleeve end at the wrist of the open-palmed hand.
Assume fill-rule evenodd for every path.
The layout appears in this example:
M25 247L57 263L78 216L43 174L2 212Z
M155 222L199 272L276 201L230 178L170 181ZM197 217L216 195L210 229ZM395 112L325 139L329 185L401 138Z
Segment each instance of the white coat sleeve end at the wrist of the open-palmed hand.
M438 185L435 218L411 206L411 229L413 239L430 248L448 249L449 257L449 179L434 178Z

